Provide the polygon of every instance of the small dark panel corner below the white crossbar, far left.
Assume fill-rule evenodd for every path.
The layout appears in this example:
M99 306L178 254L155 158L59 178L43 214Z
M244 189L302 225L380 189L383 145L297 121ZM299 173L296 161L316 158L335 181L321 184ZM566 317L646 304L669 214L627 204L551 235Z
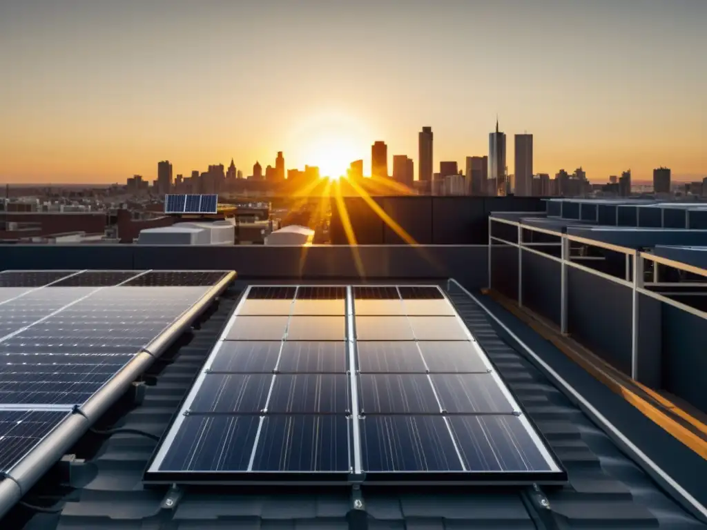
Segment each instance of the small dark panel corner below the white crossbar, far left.
M0 411L0 471L9 471L69 416L68 412Z

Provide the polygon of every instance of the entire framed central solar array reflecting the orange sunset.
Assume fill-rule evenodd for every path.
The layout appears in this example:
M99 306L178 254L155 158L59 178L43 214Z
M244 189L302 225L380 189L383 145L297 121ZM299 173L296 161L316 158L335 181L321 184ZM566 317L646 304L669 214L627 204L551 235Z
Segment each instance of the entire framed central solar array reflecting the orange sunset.
M436 286L252 286L146 471L177 483L566 478Z

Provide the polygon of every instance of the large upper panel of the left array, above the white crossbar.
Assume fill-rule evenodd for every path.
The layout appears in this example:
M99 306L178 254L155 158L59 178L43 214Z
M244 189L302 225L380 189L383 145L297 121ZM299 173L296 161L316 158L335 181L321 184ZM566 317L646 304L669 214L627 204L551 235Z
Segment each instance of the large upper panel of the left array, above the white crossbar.
M84 404L210 288L123 286L137 274L88 271L1 305L0 404Z

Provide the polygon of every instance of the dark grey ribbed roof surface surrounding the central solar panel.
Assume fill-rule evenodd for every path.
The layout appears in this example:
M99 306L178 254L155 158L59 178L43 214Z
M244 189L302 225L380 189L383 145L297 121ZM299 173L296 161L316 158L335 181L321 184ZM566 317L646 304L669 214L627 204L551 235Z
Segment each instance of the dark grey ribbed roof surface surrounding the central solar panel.
M144 401L115 419L114 428L161 435L192 384L235 303L230 291L218 310L182 346L146 389ZM423 488L362 492L363 510L338 490L276 490L236 494L228 488L186 490L172 509L160 507L165 489L147 490L141 478L157 442L129 432L86 442L75 488L46 478L25 501L52 505L55 514L18 506L0 528L88 529L694 529L687 515L573 406L549 380L501 341L468 298L455 299L462 317L569 473L570 485L538 495L522 490ZM164 364L164 363L163 363ZM113 421L113 420L109 420ZM97 450L96 450L97 449ZM90 454L93 453L93 454ZM543 499L549 501L549 510ZM650 506L650 509L648 508Z

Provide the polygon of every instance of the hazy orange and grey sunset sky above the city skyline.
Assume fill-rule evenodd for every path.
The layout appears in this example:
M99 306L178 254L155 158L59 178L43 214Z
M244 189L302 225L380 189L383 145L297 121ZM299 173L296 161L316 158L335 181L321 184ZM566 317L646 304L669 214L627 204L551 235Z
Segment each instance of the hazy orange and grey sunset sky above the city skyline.
M484 155L707 176L707 0L1 0L0 181ZM389 165L392 168L392 164ZM392 169L391 169L392 170Z

